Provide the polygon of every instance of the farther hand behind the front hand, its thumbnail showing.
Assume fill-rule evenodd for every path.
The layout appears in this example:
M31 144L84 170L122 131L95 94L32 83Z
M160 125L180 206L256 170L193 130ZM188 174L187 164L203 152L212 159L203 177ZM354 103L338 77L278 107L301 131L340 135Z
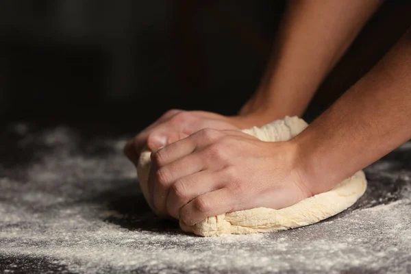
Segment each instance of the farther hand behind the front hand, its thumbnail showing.
M127 158L137 164L142 148L151 151L186 138L206 127L213 129L244 129L253 126L245 116L223 116L212 112L169 110L157 121L136 135L125 145Z

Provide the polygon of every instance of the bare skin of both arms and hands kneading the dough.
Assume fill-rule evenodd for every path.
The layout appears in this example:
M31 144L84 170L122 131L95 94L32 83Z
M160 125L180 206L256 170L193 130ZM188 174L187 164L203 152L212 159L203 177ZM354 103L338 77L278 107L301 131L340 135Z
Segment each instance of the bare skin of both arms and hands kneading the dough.
M150 203L160 213L194 225L225 212L284 208L329 190L411 137L410 31L292 140L262 142L236 130L303 113L379 5L348 2L290 3L275 62L240 115L175 110L127 144L135 163L145 142L153 150Z

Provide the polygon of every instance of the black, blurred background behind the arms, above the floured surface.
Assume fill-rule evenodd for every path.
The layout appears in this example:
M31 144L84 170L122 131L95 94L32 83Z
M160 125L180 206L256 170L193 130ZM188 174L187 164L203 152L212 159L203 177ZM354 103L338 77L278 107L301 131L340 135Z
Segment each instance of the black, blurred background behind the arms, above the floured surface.
M0 1L0 120L141 129L170 108L235 114L284 1ZM386 1L310 108L316 116L410 27ZM303 47L303 45L301 45Z

